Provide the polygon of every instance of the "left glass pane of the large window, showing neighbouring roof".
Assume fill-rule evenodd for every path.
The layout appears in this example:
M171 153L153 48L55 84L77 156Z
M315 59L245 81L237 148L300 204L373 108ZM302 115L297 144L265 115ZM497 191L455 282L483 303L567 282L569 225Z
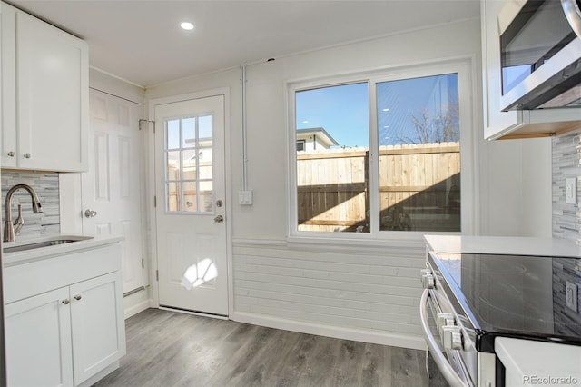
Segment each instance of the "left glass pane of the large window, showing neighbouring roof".
M368 83L295 94L299 231L369 232Z

